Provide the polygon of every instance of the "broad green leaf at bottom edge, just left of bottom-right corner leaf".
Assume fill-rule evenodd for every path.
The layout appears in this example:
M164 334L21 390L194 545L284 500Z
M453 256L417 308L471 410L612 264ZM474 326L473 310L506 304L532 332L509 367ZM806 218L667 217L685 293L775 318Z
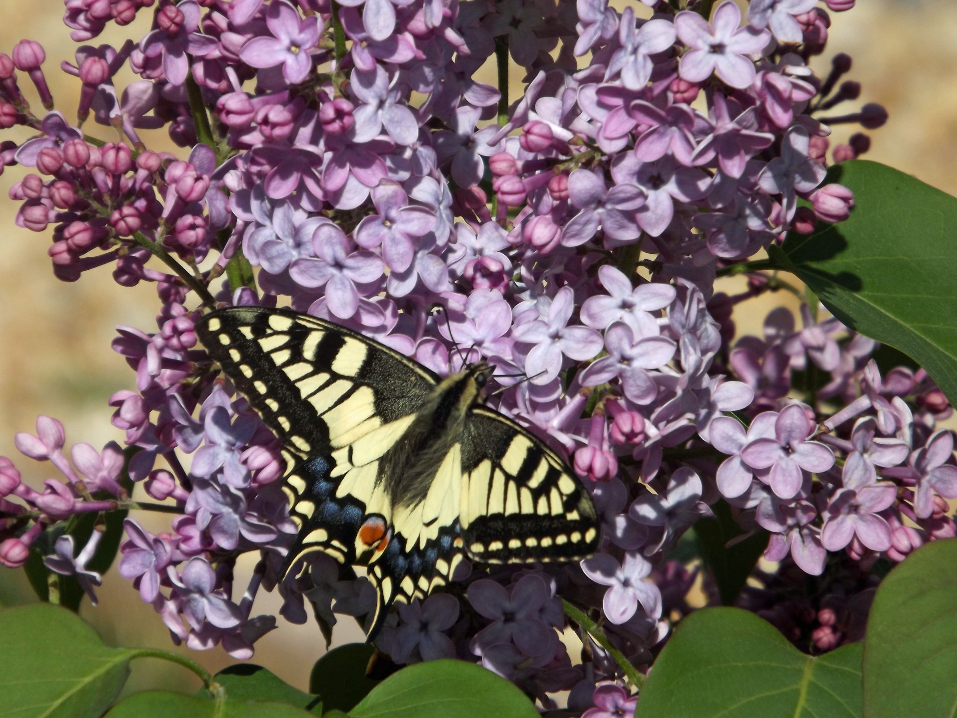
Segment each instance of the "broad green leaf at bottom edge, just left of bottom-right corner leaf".
M860 718L862 645L819 658L747 611L684 618L648 676L635 718Z

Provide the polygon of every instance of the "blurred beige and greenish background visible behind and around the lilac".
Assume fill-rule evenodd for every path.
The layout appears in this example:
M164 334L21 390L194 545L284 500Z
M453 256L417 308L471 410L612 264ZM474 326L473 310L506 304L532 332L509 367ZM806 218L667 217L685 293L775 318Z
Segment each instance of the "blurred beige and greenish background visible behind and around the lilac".
M571 2L572 0L559 0ZM623 3L616 3L620 5ZM746 3L742 3L745 7ZM24 38L40 42L47 53L44 64L47 81L56 99L56 107L68 120L76 115L79 81L60 72L61 61L74 61L77 44L62 24L60 0L36 0L16 11L4 13L0 24L0 51L10 53ZM150 11L126 28L110 27L110 32L94 42L122 44L126 37L142 38L148 32ZM847 114L865 102L879 102L890 113L890 120L871 133L873 145L864 157L899 168L941 190L957 194L957 92L952 89L957 71L957 3L929 0L860 0L857 8L832 13L830 41L825 56L813 63L818 76L830 69L830 60L838 52L851 55L854 67L845 79L862 84L860 99L838 105L830 115ZM494 71L493 71L494 73ZM32 89L22 73L21 86ZM131 75L117 79L122 89ZM485 81L494 81L494 74ZM519 78L512 81L519 86ZM31 101L35 96L29 95ZM511 98L513 101L516 96ZM39 102L34 102L34 112ZM114 139L112 130L92 121L85 128L103 140ZM835 125L832 141L846 142L857 125ZM19 134L17 131L19 130ZM5 132L0 139L22 142L29 135L22 128ZM175 151L162 131L144 133L147 146ZM0 176L0 192L6 197L11 185L22 176L19 168L7 168ZM4 264L0 272L0 455L8 456L23 472L25 481L39 485L53 477L49 464L21 457L13 447L16 432L33 432L36 415L56 416L66 427L67 445L85 441L100 449L109 440L122 442L122 432L110 424L112 410L108 397L122 389L133 389L134 375L122 357L110 349L117 325L130 325L153 331L159 304L152 284L133 288L117 285L108 268L85 274L78 282L54 279L47 257L50 232L37 234L14 223L17 206L10 200L0 202L0 235ZM901 237L920 241L919 237ZM774 301L782 301L781 296ZM746 305L739 314L740 333L760 329L765 310ZM138 517L154 531L168 528L168 516L150 514ZM240 566L248 572L251 565ZM236 586L245 586L246 578L236 576ZM100 605L84 604L82 616L113 645L155 646L173 649L160 617L145 605L130 582L114 567L103 579ZM22 572L0 569L0 605L33 599ZM256 614L277 614L277 596L260 593ZM354 621L345 617L336 627L336 643L361 640ZM253 662L270 667L285 681L305 689L309 669L323 652L323 638L313 622L294 626L279 619L279 627L256 643ZM209 669L219 670L233 662L221 649L196 653L186 648L173 649L189 654ZM198 687L184 684L191 674L168 662L134 662L133 678L127 690L175 685L183 689Z

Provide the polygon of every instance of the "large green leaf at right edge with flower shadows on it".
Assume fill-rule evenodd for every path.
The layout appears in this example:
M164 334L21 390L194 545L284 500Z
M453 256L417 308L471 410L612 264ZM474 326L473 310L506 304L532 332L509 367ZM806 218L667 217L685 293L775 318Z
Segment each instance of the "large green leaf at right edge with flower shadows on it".
M864 160L835 165L828 180L854 191L850 218L790 234L777 263L841 322L912 357L957 403L957 197Z

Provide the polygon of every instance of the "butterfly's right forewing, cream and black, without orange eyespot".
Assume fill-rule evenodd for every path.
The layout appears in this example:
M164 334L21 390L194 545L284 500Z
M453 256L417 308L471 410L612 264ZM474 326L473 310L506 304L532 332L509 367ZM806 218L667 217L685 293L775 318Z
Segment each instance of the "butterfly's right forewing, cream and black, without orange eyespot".
M485 407L462 440L460 524L485 563L570 561L598 546L598 519L581 482L541 439Z

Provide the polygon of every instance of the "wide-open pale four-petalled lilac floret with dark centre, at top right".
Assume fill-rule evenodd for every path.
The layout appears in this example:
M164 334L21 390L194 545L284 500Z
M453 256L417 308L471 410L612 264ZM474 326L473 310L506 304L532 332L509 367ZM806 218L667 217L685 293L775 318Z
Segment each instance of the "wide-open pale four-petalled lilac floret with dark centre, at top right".
M675 16L675 30L679 40L691 48L681 56L681 77L701 82L714 73L731 87L750 85L755 74L754 63L746 56L764 51L770 34L740 25L741 11L732 2L718 6L713 25L697 12L679 12Z

